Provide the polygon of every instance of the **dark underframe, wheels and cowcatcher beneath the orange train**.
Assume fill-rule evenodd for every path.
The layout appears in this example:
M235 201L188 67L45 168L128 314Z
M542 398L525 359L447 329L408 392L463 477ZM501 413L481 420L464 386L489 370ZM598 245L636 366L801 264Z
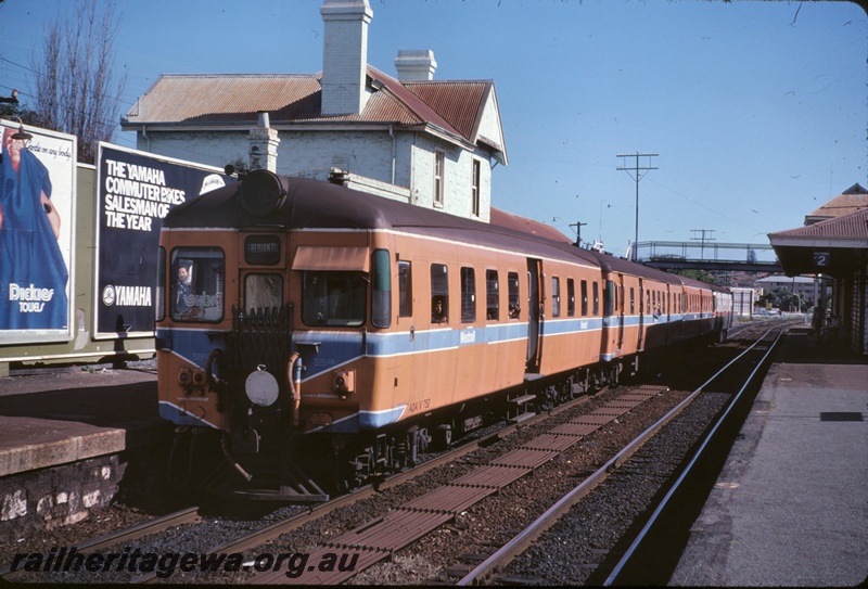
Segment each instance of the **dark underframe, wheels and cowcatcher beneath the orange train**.
M296 433L285 412L258 407L240 411L238 407L231 432L176 430L169 482L195 492L326 501L412 468L424 454L483 427L505 420L520 422L603 386L617 385L637 368L634 356L553 376L527 374L521 386L358 434ZM234 397L240 401L244 395ZM232 402L227 405L232 411Z

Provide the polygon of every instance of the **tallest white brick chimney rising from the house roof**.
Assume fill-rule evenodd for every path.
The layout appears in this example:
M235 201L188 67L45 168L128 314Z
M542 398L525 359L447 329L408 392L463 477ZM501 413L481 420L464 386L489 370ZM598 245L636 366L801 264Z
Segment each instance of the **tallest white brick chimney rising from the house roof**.
M319 10L324 29L322 114L360 114L368 101L368 0L326 0Z

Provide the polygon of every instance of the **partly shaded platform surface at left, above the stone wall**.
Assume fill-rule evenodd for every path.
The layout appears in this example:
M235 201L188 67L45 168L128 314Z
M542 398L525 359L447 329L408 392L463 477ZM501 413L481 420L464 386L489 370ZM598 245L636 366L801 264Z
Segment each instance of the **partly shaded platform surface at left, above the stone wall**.
M153 363L30 372L0 377L0 476L144 446L169 427Z

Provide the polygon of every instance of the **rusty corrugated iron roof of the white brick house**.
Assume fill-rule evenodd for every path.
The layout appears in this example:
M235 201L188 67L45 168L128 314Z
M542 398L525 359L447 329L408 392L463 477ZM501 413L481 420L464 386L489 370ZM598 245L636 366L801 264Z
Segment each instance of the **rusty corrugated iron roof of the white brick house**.
M122 119L124 130L227 130L257 124L269 114L272 128L334 129L387 127L419 129L464 146L480 145L506 164L501 137L480 132L494 81L406 81L368 66L376 89L360 114L320 114L321 73L162 75ZM499 115L498 115L499 116ZM499 125L499 123L498 123Z

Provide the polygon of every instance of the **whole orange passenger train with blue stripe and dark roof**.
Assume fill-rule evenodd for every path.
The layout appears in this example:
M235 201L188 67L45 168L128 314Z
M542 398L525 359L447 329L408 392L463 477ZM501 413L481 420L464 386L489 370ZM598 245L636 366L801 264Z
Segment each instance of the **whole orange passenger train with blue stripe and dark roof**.
M176 207L159 260L171 477L252 498L324 500L728 326L724 290L542 223L266 170Z

